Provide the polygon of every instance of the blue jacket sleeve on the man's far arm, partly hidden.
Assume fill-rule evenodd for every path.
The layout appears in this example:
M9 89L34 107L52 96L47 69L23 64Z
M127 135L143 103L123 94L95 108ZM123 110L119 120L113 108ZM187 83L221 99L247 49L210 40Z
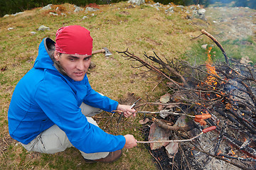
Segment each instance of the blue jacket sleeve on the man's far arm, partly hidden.
M84 103L93 106L95 108L101 108L103 111L114 111L117 109L118 102L99 94L97 91L93 90L89 84L87 77L85 77L85 84L87 86L87 96L84 98Z

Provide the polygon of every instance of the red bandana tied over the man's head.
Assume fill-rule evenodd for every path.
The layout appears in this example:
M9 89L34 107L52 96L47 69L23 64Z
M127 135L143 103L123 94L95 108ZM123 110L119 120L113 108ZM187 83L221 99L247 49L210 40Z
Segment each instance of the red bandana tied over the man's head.
M69 55L92 55L90 31L82 26L65 26L57 30L55 50Z

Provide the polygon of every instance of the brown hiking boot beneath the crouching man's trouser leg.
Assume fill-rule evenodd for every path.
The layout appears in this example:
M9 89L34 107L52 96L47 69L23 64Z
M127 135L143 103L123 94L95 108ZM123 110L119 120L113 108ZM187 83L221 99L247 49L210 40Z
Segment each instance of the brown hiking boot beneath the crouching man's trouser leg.
M117 159L119 159L122 156L122 149L121 150L117 150L114 152L110 152L110 154L107 155L107 157L105 158L101 158L101 159L85 159L86 163L96 163L96 162L104 162L104 163L110 163L110 162L114 162Z

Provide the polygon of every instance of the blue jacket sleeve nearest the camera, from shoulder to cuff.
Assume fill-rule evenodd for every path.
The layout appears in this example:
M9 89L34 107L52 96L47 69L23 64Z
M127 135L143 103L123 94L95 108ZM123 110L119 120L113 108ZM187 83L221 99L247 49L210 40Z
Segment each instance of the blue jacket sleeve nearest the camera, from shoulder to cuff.
M49 77L41 81L35 99L48 118L58 125L73 146L82 152L113 152L124 147L124 136L107 134L87 122L78 107L74 92L68 84L63 84L60 77Z

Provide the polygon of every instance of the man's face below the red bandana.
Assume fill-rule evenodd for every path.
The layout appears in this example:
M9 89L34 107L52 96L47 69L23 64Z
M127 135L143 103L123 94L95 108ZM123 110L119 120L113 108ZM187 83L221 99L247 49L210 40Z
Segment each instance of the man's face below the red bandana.
M75 81L84 79L87 69L90 66L91 55L68 55L55 52L55 60L60 62L68 77Z

